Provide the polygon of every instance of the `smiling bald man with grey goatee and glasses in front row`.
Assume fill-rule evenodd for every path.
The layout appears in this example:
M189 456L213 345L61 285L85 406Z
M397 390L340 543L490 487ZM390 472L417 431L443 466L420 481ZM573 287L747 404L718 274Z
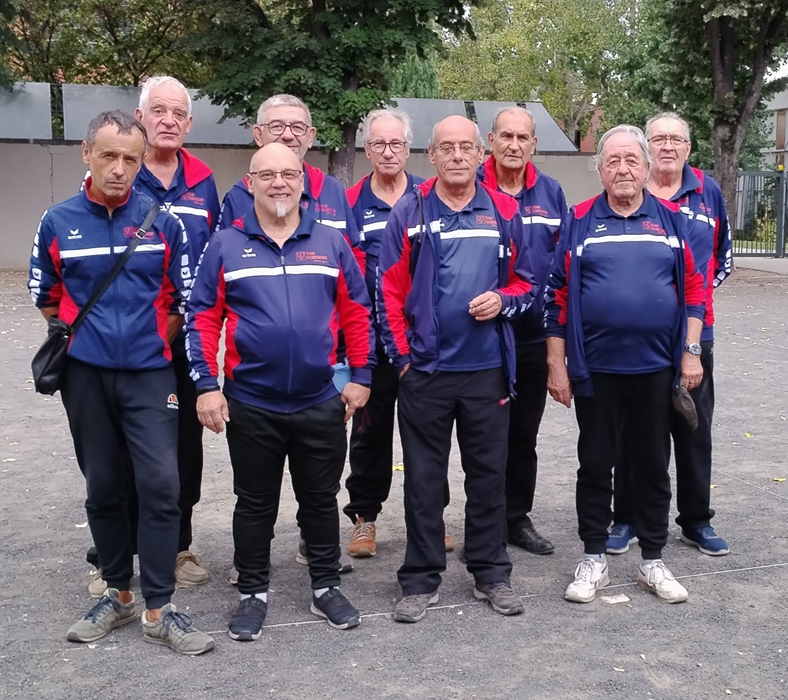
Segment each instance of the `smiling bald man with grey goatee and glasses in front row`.
M375 364L364 278L342 233L299 206L298 156L269 144L252 158L247 178L254 208L205 249L187 326L200 421L215 433L227 425L241 592L229 634L238 641L262 634L285 459L306 542L311 610L337 629L359 624L358 610L339 590L336 497L347 451L344 424L367 402ZM330 359L335 313L351 372L341 393ZM217 355L225 322L222 390Z

